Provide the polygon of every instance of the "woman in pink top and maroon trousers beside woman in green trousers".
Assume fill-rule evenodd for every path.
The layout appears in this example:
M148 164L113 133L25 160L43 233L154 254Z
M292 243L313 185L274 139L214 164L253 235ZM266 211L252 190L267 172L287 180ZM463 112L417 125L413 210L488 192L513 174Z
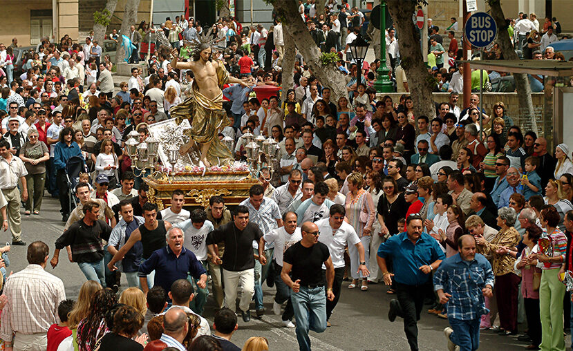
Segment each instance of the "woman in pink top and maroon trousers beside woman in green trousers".
M521 276L521 294L525 316L527 317L527 334L532 339L532 344L527 349L537 350L541 343L541 319L539 319L539 291L534 289L534 273L541 274L541 269L536 267L537 260L534 258L538 251L537 240L542 231L536 225L525 229L523 243L527 245L518 256L515 268L516 274ZM539 287L538 287L539 288Z

